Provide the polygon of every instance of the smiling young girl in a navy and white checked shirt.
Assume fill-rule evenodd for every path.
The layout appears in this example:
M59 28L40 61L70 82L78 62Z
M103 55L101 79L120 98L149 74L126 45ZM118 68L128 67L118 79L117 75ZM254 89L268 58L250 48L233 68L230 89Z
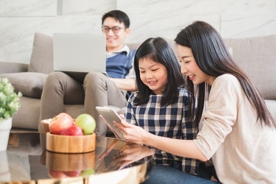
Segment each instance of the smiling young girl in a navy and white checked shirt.
M188 93L170 45L159 37L144 41L135 54L134 68L138 91L128 99L126 121L150 134L173 139L197 136L198 128L188 113ZM155 164L197 174L198 161L155 152Z

